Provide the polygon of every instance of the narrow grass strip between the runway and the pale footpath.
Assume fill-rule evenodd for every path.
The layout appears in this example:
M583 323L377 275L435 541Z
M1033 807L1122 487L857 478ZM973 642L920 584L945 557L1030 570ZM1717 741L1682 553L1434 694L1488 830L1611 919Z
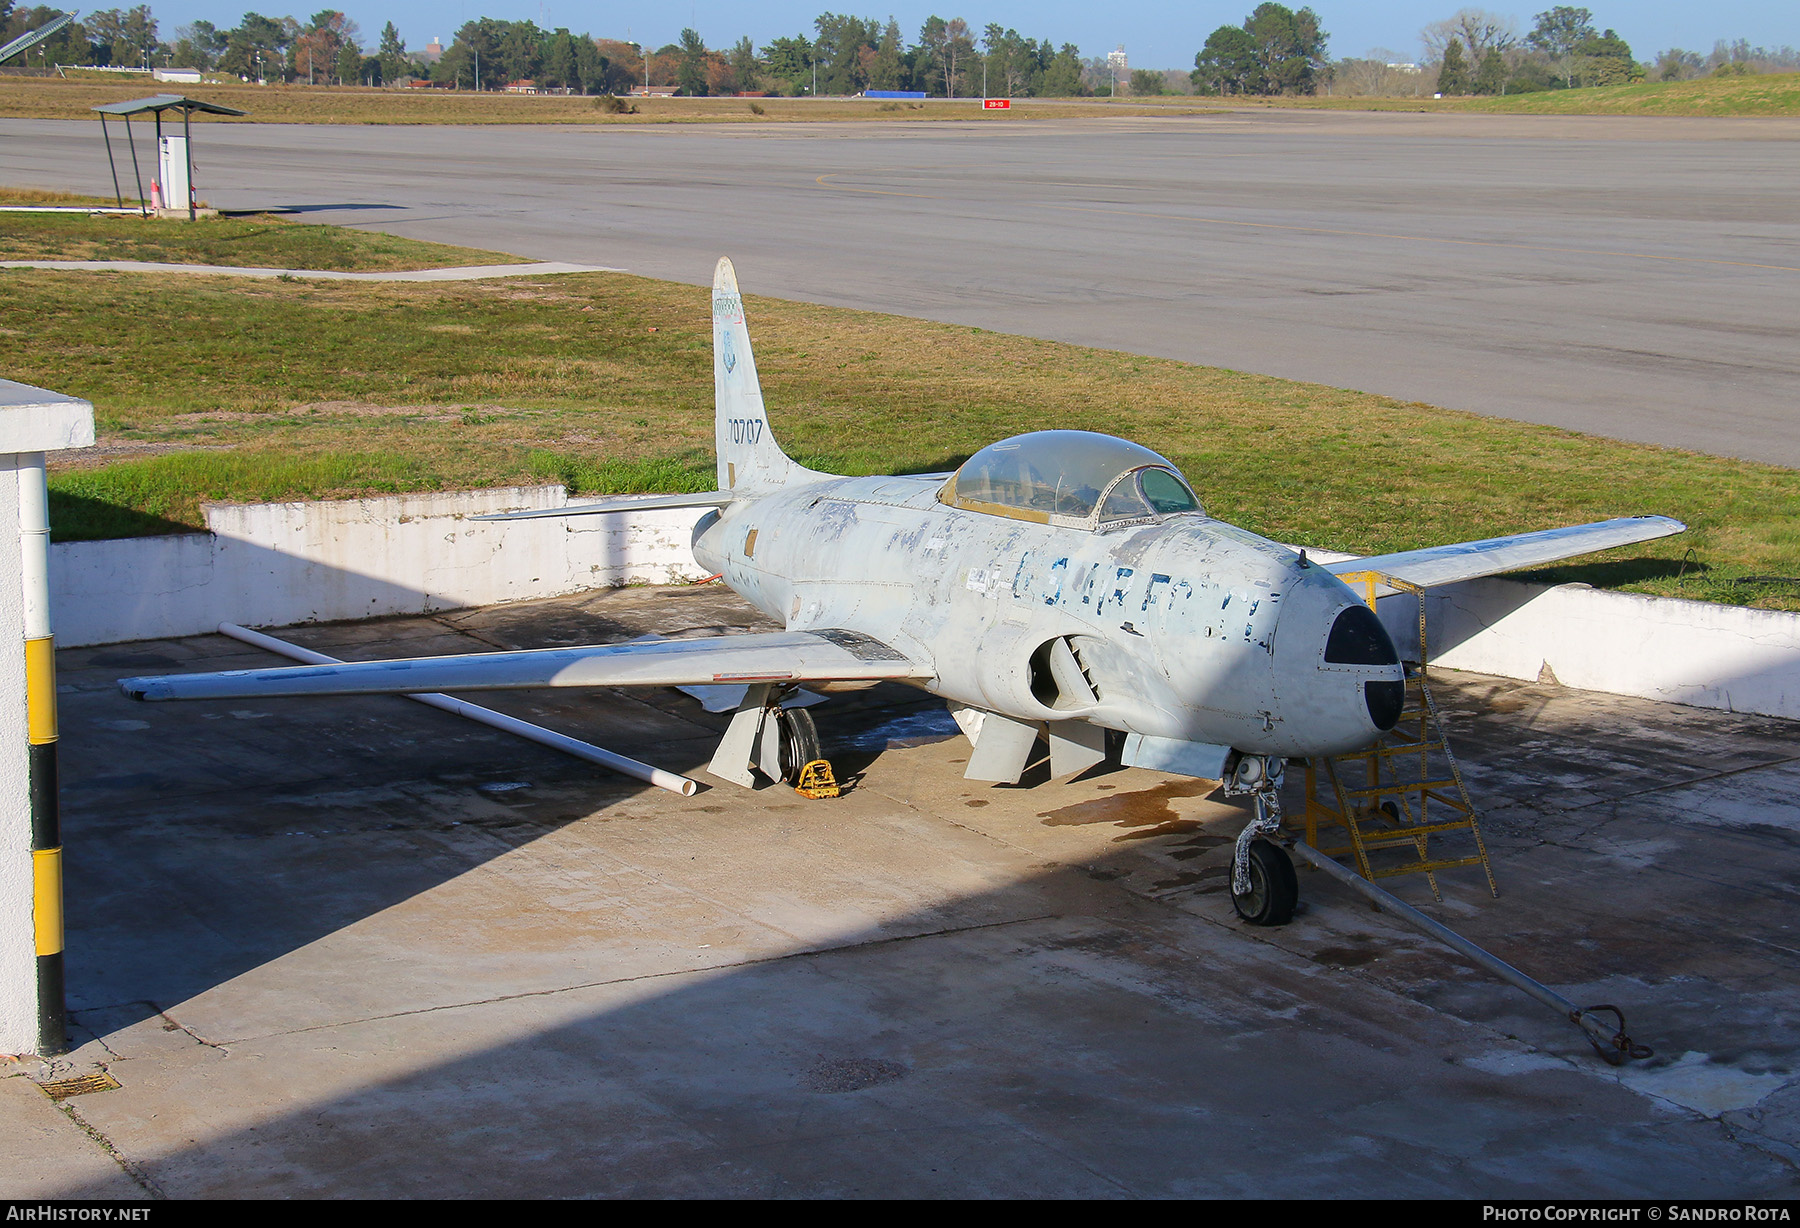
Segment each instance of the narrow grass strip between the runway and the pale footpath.
M61 193L0 189L0 205L13 203L95 202ZM333 272L518 263L517 256L506 252L304 225L277 216L160 221L135 214L68 212L0 212L0 259L144 259Z

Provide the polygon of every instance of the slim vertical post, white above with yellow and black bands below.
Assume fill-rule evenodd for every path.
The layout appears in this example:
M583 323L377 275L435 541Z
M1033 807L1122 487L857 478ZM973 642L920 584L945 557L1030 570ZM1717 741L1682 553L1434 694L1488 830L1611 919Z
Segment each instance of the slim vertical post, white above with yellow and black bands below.
M25 735L31 756L31 915L38 947L38 1052L49 1055L68 1048L63 999L63 832L56 801L50 502L43 452L27 452L18 459L20 571L25 598Z

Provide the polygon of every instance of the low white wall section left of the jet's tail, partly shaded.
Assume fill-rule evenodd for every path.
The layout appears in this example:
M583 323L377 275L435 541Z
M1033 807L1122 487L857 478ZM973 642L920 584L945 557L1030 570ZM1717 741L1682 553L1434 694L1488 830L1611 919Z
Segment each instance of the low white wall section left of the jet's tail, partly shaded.
M196 636L221 621L290 627L423 614L700 578L689 549L693 510L468 519L567 502L562 486L511 486L218 504L207 508L211 533L59 542L50 547L56 643Z

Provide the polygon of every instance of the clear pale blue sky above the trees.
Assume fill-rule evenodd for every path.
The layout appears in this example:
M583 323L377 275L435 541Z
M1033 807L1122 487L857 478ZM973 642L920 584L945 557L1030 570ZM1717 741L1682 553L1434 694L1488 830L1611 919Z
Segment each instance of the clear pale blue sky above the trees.
M121 0L122 4L128 0ZM1301 0L1303 2L1303 0ZM1508 5L1507 0L1489 0L1483 7L1516 20L1523 34L1532 27L1532 16L1548 9L1553 0L1532 0L1528 5ZM362 27L362 41L373 47L387 22L400 27L409 49L421 49L441 38L445 45L464 22L479 16L529 20L544 29L569 27L596 38L630 38L652 47L673 43L682 27L695 27L707 47L729 47L749 34L763 45L783 34L812 32L812 20L824 11L873 16L886 23L889 16L900 22L907 43L918 41L918 29L931 14L961 16L977 32L990 22L1013 27L1028 38L1075 43L1084 56L1100 56L1114 47L1125 47L1136 68L1192 68L1193 54L1220 25L1240 23L1256 0L1199 0L1186 4L1096 4L1094 0L983 0L959 4L952 0L886 0L886 4L855 4L855 0L761 0L760 4L729 4L727 0L637 0L637 4L576 4L574 0L304 0L322 7L342 7ZM290 16L279 0L149 0L160 34L173 41L175 27L203 18L220 29L230 29L243 20L247 9L268 16ZM1301 7L1291 4L1289 7ZM1451 16L1465 7L1460 0L1312 0L1327 34L1334 59L1363 56L1375 47L1400 52L1411 59L1418 54L1418 31L1429 22ZM1638 59L1652 59L1669 47L1712 50L1717 40L1746 38L1753 47L1800 47L1800 4L1795 0L1586 0L1595 27L1613 27L1631 43ZM308 18L311 7L292 11Z

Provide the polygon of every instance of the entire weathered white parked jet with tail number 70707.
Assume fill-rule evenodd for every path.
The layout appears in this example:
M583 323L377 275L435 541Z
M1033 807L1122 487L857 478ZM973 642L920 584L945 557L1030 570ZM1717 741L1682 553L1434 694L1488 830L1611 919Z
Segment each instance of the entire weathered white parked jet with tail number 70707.
M1280 825L1287 758L1370 745L1400 715L1404 673L1339 573L1429 587L1625 546L1685 526L1629 517L1321 565L1208 517L1156 452L1039 430L954 474L839 477L796 465L763 412L731 261L713 281L718 490L551 511L706 510L702 567L787 630L713 639L234 670L121 682L133 699L247 699L536 686L747 686L711 762L725 780L788 778L817 756L794 688L911 682L947 699L967 776L1017 781L1040 736L1055 776L1123 735L1127 765L1222 780L1255 799L1233 873L1258 924L1287 920Z

